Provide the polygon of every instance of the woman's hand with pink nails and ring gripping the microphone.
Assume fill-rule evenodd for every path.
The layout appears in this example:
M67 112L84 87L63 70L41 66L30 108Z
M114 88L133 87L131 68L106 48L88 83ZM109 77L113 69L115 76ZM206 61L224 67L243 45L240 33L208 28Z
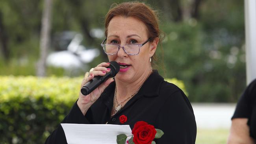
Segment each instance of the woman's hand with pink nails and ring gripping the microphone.
M93 71L90 72L89 77L84 78L81 84L81 88L83 87L83 85L85 85L88 81L90 81L91 79L93 79L95 76L104 76L107 72L110 71L110 68L106 68L109 66L109 63L100 63L98 66L96 66L95 68L93 68ZM80 108L80 110L82 111L83 115L86 114L87 110L89 109L89 107L91 107L91 105L98 100L98 98L100 97L100 94L102 94L102 92L104 91L104 89L106 87L108 87L108 85L113 82L114 79L113 78L109 78L108 80L106 80L104 83L102 83L101 85L99 85L95 90L93 90L90 94L88 94L87 96L84 96L81 91L79 94L79 98L77 101L77 105Z

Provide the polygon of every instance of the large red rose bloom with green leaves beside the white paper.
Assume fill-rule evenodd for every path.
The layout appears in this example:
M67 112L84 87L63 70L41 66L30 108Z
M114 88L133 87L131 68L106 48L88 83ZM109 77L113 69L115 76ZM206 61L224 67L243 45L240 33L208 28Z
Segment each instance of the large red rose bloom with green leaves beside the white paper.
M132 134L134 135L133 142L135 144L151 144L155 138L156 129L147 122L139 121L135 123Z

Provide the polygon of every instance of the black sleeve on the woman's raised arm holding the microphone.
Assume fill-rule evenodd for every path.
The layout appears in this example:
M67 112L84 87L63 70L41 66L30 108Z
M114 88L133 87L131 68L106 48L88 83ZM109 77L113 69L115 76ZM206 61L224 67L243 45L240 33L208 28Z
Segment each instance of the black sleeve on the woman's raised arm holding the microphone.
M91 114L91 109L89 109L84 116L79 109L77 103L75 102L69 114L64 118L61 123L91 124L91 120L89 119L92 118ZM58 128L55 129L46 139L45 144L67 144L65 133L63 131L63 128L61 127L61 124L59 124Z

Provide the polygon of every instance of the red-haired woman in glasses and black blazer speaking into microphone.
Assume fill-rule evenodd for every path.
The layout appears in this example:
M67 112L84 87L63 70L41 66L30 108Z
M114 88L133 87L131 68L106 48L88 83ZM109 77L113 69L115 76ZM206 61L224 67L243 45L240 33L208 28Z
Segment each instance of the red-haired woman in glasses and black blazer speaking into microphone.
M128 124L133 128L136 122L144 121L164 132L155 140L157 144L194 144L196 122L187 96L152 70L161 34L155 11L140 2L118 4L107 13L105 28L101 46L109 61L119 63L119 73L87 96L80 92L61 123ZM104 62L92 68L81 87L108 73L108 66ZM122 115L125 121L119 120ZM64 143L67 141L59 125L46 144Z

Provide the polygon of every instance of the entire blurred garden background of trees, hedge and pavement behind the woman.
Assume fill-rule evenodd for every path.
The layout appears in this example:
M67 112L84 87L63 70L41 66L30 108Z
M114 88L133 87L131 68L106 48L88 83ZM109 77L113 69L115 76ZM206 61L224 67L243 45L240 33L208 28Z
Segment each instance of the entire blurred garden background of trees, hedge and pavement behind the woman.
M58 126L83 74L108 61L100 46L104 16L120 2L0 0L1 143L43 143ZM197 144L225 143L246 87L244 1L140 2L158 10L165 39L156 69L186 91Z

